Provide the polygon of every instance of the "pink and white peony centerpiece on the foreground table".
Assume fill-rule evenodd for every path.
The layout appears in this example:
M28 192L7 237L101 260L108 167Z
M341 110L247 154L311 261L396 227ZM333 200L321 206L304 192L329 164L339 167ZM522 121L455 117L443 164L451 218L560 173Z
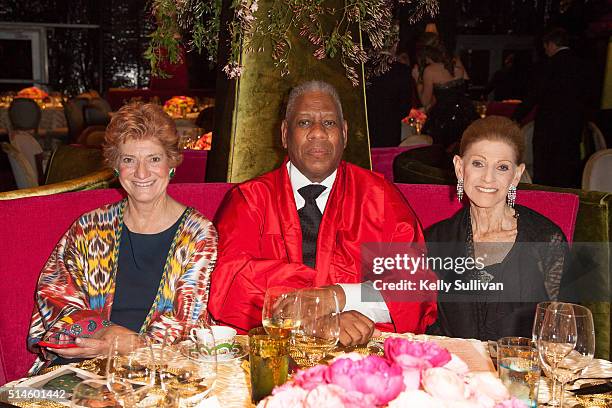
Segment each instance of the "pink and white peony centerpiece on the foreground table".
M329 365L298 371L260 401L275 407L525 408L489 372L467 365L433 342L385 340L385 357L342 355Z

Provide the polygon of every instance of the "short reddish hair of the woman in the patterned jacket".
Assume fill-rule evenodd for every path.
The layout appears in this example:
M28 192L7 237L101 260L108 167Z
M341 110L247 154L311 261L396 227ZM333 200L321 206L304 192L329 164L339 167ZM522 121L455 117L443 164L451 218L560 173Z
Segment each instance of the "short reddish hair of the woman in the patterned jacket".
M161 106L153 103L130 103L115 113L104 136L104 158L111 167L117 167L119 145L128 140L155 139L164 147L170 167L181 164L183 155L178 147L174 120Z

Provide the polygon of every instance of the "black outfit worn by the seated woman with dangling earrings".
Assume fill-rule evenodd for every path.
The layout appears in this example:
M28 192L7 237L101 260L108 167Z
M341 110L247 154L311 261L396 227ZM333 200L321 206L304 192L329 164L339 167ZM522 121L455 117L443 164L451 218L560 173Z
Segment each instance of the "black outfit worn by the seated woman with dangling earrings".
M568 245L561 229L546 217L519 205L516 212L516 240L501 263L462 275L435 271L446 282L502 283L503 291L439 293L438 320L430 333L480 340L531 337L537 303L559 296ZM432 225L425 237L430 258L473 257L469 208Z

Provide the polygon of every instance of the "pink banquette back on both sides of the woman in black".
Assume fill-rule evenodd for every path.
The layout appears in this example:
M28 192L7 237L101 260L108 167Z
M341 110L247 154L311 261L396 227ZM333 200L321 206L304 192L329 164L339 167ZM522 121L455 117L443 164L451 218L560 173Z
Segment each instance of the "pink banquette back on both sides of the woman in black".
M454 186L396 184L425 229L451 217L460 208ZM549 191L518 190L516 202L539 212L557 224L571 243L578 214L578 196Z

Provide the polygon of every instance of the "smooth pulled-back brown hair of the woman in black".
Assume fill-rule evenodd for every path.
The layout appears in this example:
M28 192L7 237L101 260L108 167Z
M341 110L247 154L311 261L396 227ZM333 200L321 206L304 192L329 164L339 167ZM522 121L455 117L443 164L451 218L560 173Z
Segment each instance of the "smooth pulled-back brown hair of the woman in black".
M523 162L525 142L523 133L516 123L503 116L487 116L474 121L461 136L459 155L463 156L467 149L481 140L495 140L507 143L514 150L517 164Z

